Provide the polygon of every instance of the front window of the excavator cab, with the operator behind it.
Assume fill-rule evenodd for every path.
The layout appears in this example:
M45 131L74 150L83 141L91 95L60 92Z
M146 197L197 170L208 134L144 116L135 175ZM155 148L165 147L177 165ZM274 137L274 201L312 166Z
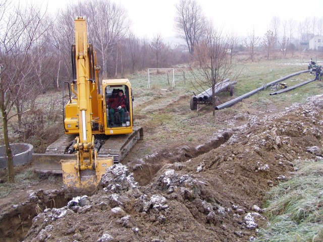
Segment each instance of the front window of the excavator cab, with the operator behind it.
M122 98L119 98L119 92ZM130 126L129 115L129 88L126 85L111 85L105 88L106 120L107 127L128 127ZM124 104L124 105L122 105ZM122 105L122 108L118 106Z

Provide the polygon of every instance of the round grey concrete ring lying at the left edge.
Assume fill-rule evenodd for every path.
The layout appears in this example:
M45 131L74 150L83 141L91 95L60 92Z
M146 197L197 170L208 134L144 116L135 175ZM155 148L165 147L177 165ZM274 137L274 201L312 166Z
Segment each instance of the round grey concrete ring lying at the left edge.
M14 166L25 164L32 159L32 153L34 152L34 147L31 144L17 143L11 144L10 148L12 150L14 158ZM6 168L8 164L8 158L6 155L6 146L0 146L0 168Z

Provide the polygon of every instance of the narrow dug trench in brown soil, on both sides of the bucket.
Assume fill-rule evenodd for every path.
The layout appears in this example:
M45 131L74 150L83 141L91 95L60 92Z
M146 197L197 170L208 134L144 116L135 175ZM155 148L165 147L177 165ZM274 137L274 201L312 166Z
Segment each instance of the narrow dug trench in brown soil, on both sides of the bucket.
M184 162L217 148L229 140L232 131L219 132L207 143L197 147L183 146L179 149L164 149L160 153L146 156L126 164L140 186L149 184L161 167L175 162ZM140 145L140 144L138 144ZM131 154L130 154L131 156ZM14 197L14 196L13 196ZM0 216L0 240L22 241L32 225L32 219L45 209L60 209L68 204L63 187L58 190L39 189L2 211Z

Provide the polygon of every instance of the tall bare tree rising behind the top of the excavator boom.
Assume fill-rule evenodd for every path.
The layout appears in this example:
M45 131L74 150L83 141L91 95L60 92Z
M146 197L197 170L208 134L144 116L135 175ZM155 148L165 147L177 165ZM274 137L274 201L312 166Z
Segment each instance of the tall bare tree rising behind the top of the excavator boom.
M74 19L77 16L86 16L88 39L95 47L102 76L105 78L109 75L115 76L118 68L116 58L118 56L120 60L121 56L118 43L126 36L130 26L126 10L110 0L89 0L71 2L60 12L57 31L60 31L60 28L63 31L58 33L55 46L61 50L63 61L68 60L68 63L64 63L68 70L70 69L70 57L68 57L70 46L74 43Z

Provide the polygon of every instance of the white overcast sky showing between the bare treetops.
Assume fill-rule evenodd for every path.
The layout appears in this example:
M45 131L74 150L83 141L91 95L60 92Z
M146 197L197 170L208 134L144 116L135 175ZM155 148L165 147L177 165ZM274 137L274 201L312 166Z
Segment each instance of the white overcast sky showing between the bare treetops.
M31 1L45 4L48 1L50 12L53 12L58 8L64 8L71 0ZM147 38L153 38L156 34L160 34L161 37L175 36L175 4L179 0L110 1L120 4L127 10L132 21L132 31L137 36ZM263 36L274 16L278 16L281 22L292 18L297 23L313 16L317 19L323 17L322 7L315 1L197 0L197 3L202 7L206 18L213 21L214 26L223 27L228 32L234 31L238 35L246 35L254 29L256 35Z

